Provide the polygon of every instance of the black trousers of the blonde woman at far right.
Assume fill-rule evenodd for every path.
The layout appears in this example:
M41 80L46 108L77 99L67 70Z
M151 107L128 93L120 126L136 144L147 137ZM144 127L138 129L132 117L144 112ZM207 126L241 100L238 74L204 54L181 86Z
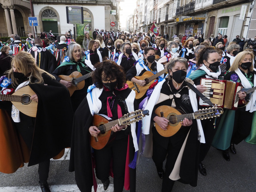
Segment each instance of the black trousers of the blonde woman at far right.
M251 132L253 113L249 111L236 110L234 129L231 142L238 144L243 141Z

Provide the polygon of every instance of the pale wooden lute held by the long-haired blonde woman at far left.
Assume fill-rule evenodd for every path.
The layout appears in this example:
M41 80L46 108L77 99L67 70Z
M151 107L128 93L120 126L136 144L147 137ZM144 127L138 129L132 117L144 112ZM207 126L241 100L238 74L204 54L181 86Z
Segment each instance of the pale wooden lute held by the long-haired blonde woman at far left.
M30 97L34 94L36 93L29 86L25 86L12 95L0 94L0 100L11 101L20 112L30 117L36 117L37 102L30 100Z

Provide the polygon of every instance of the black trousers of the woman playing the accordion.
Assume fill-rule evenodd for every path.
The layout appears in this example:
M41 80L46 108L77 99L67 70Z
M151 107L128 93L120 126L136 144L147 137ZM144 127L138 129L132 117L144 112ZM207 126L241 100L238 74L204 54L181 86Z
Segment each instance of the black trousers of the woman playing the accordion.
M199 162L202 162L205 159L205 156L207 155L207 153L211 147L212 140L213 140L214 135L218 129L218 124L220 122L219 119L220 118L216 118L215 129L214 129L214 125L213 125L215 118L204 119L201 121L204 135L205 135L205 143L200 144Z

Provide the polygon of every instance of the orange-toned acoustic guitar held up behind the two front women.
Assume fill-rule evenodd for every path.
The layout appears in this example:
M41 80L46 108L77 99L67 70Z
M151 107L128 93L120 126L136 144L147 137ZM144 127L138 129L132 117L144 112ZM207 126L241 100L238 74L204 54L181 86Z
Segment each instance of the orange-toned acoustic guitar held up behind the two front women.
M126 83L128 84L129 88L135 91L135 99L140 99L146 93L150 85L156 80L156 78L160 75L163 75L164 73L167 73L167 69L163 69L156 74L151 71L145 71L141 76L134 76L136 79L146 81L145 86L140 86L139 84L132 81L126 81Z

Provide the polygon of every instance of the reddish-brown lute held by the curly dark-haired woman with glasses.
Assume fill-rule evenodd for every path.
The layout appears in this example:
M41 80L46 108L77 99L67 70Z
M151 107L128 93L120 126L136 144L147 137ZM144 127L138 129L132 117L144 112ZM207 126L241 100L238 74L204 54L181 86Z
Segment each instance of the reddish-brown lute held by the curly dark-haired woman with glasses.
M145 115L148 115L148 110L136 110L135 112L128 113L121 117L120 119L110 121L110 118L106 115L96 114L93 115L93 125L98 127L100 134L97 137L90 136L91 146L94 149L102 149L107 144L111 143L115 139L114 132L111 131L111 128L118 124L121 125L130 125L136 121L141 120Z

